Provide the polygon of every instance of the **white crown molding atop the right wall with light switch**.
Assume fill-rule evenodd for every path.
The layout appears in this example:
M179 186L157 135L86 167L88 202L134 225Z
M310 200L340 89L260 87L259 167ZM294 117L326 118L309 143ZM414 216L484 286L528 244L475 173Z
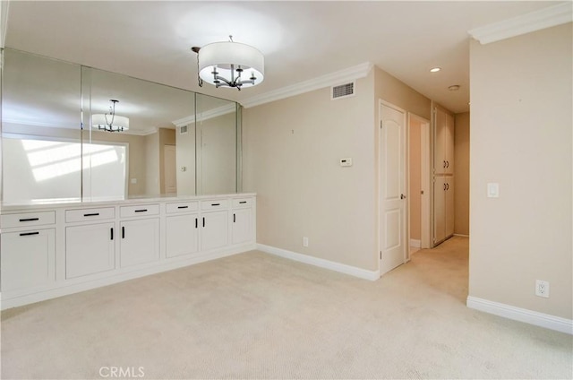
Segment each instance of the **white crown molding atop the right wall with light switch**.
M573 2L557 4L502 22L468 30L482 45L573 21Z

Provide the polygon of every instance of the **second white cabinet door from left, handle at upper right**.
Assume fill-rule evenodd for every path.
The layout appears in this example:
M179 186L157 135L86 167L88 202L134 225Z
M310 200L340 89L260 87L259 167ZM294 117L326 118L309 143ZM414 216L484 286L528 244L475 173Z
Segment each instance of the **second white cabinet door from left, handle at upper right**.
M65 278L115 269L114 223L86 224L65 229Z

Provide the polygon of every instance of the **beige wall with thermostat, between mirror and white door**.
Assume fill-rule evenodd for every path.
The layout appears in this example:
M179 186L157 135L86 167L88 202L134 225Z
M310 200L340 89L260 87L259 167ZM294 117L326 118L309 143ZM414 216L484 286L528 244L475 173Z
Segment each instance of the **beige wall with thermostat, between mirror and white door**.
M378 270L373 75L346 99L324 88L244 109L243 187L257 193L258 243ZM350 168L339 165L346 157Z

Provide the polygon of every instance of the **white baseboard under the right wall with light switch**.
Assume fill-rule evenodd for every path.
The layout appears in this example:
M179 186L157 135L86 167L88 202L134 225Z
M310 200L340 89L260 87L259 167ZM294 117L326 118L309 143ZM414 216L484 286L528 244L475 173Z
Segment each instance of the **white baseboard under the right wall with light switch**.
M535 324L535 326L573 335L573 320L561 318L560 316L538 313L533 310L512 307L499 302L471 296L467 297L466 306L485 313L499 315L515 321L525 322L526 324Z

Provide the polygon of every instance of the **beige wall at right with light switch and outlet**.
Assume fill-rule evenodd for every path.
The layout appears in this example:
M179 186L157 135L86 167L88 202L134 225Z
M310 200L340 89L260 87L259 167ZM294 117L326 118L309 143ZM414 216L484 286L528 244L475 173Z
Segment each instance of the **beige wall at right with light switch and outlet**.
M571 25L470 46L469 294L568 319ZM535 280L550 282L550 298L535 297Z

